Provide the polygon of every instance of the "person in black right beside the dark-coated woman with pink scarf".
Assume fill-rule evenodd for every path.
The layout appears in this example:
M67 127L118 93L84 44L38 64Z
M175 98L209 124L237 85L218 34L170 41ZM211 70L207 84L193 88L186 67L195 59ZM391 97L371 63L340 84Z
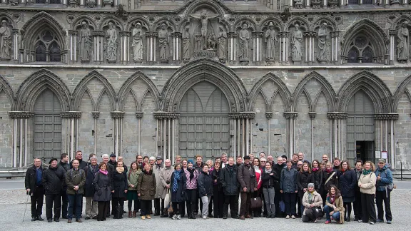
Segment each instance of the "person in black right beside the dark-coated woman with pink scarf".
M123 162L118 161L117 167L111 175L111 193L113 193L114 219L123 218L124 198L128 190L127 175Z

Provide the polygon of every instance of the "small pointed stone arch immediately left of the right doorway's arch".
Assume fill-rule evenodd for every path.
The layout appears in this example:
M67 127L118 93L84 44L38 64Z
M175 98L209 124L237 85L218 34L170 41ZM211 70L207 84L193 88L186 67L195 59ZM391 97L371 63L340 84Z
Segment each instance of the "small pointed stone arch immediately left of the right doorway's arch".
M318 101L318 96L319 94L323 91L325 98L327 99L328 103L328 111L335 111L335 91L333 89L333 86L331 86L330 82L327 81L327 79L324 78L324 76L321 76L318 72L313 71L311 73L308 73L308 75L304 76L304 78L298 83L297 87L294 90L293 93L293 111L297 110L297 104L298 104L298 98L300 97L301 93L305 91L305 85L311 80L315 79L321 84L320 91L318 92L318 95L315 96L313 101L310 103L310 111L315 111L315 106L317 105ZM310 97L310 96L307 96Z

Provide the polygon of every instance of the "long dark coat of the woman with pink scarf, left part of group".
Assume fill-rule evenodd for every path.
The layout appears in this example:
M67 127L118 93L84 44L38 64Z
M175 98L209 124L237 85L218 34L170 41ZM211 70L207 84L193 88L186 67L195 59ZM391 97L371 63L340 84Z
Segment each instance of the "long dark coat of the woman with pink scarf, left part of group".
M104 175L98 171L94 176L94 201L110 201L111 200L111 179L110 174Z

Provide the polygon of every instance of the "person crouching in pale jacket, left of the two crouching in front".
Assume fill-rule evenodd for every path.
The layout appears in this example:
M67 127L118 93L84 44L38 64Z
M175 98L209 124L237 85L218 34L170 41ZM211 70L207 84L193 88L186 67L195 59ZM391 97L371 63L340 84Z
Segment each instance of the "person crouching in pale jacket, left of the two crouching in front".
M320 193L315 191L315 184L309 183L303 196L303 222L317 222L319 217L323 217L323 199Z

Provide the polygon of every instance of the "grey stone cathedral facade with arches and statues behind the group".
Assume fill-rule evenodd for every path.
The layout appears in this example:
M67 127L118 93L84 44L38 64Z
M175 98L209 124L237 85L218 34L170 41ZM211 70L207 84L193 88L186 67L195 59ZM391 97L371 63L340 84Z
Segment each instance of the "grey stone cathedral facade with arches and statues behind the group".
M1 0L0 168L68 153L411 165L408 0ZM0 170L1 171L1 170Z

